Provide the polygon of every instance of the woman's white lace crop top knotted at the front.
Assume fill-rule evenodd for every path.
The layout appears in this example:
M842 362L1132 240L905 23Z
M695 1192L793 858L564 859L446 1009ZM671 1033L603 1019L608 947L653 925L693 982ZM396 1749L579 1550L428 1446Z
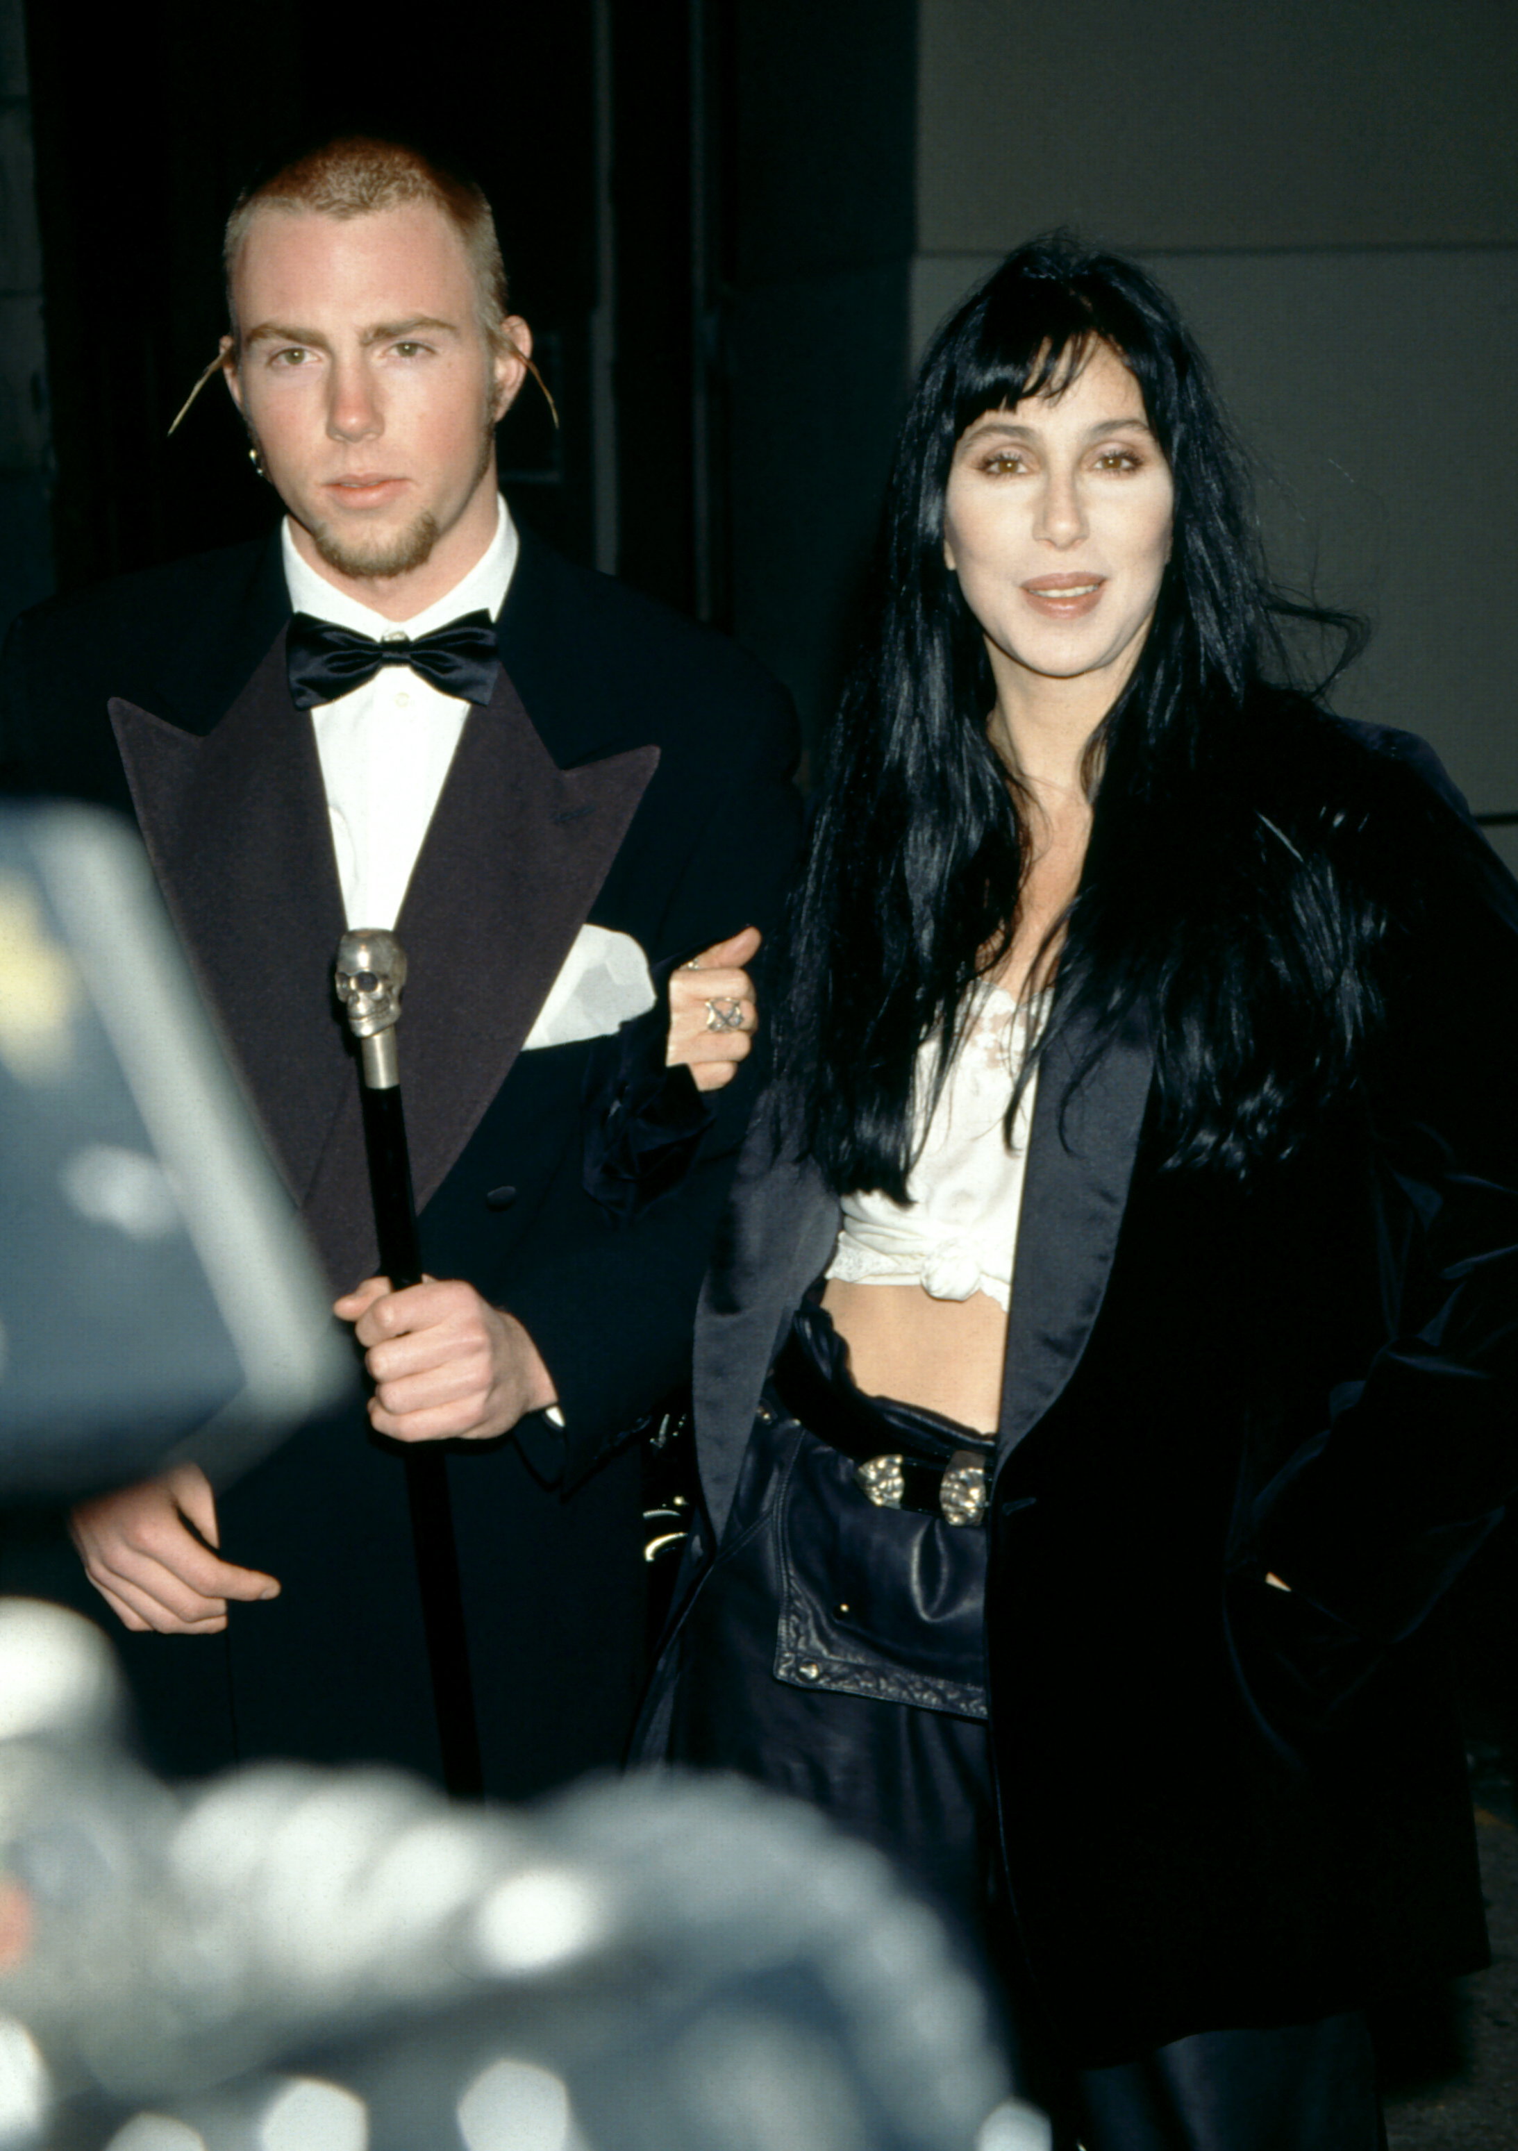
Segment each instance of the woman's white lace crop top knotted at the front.
M933 1299L989 1293L1011 1308L1036 1071L1017 1101L1011 1144L1002 1123L1028 1050L1028 1026L1043 1000L1019 1005L1004 987L987 983L974 989L927 1134L918 1106L920 1140L907 1202L884 1194L845 1196L830 1278L920 1284ZM918 1050L918 1099L931 1095L935 1054L933 1039Z

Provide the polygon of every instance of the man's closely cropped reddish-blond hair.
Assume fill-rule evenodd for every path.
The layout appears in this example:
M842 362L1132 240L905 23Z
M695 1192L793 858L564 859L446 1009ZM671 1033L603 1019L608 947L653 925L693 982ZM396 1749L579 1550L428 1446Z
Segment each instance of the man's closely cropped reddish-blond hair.
M232 305L232 271L247 239L247 228L260 209L301 211L318 217L372 217L381 209L404 209L430 202L441 211L464 243L475 280L475 316L490 351L512 348L501 329L505 316L505 262L495 234L490 202L473 179L462 179L432 163L406 142L385 142L376 136L338 136L280 166L267 179L243 187L226 219L221 267L226 271L226 310L232 323L232 348L239 329Z

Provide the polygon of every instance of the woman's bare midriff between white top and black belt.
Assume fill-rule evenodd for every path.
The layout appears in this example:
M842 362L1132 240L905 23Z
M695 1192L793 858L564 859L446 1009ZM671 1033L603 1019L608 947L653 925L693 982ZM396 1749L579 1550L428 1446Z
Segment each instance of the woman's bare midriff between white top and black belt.
M894 1396L976 1433L996 1433L1006 1312L987 1293L931 1299L920 1284L828 1278L821 1304L867 1396Z

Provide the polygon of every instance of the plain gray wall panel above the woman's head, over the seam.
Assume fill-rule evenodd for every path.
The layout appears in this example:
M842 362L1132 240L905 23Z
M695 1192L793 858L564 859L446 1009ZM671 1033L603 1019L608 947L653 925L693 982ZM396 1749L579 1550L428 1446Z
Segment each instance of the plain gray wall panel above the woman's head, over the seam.
M1512 0L922 0L918 243L1518 243Z

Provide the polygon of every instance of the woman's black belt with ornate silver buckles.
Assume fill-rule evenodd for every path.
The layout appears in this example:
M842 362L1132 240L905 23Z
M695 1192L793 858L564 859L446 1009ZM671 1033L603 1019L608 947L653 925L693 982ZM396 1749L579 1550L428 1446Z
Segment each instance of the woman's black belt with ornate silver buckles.
M770 1387L789 1418L830 1450L854 1458L860 1493L877 1508L910 1508L955 1525L985 1523L987 1467L996 1443L916 1411L910 1413L912 1424L897 1424L890 1411L875 1411L858 1390L830 1381L808 1349L815 1342L811 1327L806 1340L798 1329L774 1362ZM907 1443L916 1443L916 1456Z

